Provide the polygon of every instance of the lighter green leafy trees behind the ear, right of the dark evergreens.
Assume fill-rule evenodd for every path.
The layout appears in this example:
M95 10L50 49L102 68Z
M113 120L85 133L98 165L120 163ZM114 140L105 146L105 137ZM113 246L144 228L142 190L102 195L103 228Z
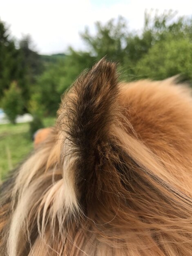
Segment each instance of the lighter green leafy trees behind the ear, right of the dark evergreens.
M190 78L191 25L192 19L176 19L172 11L163 15L157 12L154 16L145 13L145 25L141 31L129 31L127 22L122 17L109 20L105 25L96 22L94 35L88 28L81 34L87 45L87 52L77 52L69 48L64 57L54 58L54 62L50 61L53 56L49 56L46 69L38 76L36 86L32 87L31 92L38 94L39 106L43 106L45 114L55 115L60 95L80 72L105 55L118 62L124 80L139 77L163 79L178 73Z

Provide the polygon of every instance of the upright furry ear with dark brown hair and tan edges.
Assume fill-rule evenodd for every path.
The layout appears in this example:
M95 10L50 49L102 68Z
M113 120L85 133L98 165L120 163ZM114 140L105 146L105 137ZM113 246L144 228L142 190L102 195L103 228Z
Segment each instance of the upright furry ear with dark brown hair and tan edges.
M76 188L75 194L95 176L110 151L118 94L116 64L103 58L76 80L63 99L58 123L65 134L64 180L68 187L71 184L71 189Z

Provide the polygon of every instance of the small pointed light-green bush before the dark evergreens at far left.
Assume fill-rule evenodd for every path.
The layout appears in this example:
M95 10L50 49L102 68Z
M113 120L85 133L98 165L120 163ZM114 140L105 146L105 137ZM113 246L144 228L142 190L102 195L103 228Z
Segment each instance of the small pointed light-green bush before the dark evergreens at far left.
M10 88L4 92L1 106L9 121L15 124L16 117L22 113L23 108L22 95L16 82L12 82Z

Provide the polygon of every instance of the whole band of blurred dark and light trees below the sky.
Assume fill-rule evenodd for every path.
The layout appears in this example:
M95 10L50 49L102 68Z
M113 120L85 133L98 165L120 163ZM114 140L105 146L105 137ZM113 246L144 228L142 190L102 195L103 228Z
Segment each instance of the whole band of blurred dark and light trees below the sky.
M0 98L16 81L23 112L40 119L55 116L60 95L84 69L106 55L118 63L124 80L163 79L175 74L192 80L192 18L175 15L173 11L146 12L141 31L130 31L121 16L106 24L96 22L95 34L89 28L81 33L87 51L69 48L65 54L51 56L39 55L30 36L24 36L16 49L16 42L0 22Z

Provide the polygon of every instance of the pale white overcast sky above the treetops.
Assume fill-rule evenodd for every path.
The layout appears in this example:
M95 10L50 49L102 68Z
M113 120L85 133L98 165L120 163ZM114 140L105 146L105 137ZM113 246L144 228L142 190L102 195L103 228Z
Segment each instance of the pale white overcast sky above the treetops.
M94 22L106 22L119 15L130 29L141 29L145 9L178 11L192 15L192 0L0 0L0 19L11 35L30 34L41 54L65 52L69 45L83 49L79 32L85 26L94 31Z

